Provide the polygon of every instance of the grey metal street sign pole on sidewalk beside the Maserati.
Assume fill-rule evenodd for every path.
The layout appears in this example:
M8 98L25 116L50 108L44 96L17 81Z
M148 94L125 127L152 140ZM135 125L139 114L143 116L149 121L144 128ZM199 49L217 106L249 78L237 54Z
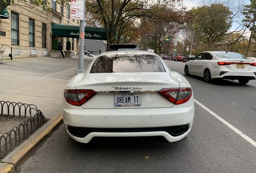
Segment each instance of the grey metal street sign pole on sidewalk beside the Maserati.
M84 70L84 47L85 47L85 0L83 0L83 20L80 20L79 28L79 54L78 54L78 69L75 75L85 72Z

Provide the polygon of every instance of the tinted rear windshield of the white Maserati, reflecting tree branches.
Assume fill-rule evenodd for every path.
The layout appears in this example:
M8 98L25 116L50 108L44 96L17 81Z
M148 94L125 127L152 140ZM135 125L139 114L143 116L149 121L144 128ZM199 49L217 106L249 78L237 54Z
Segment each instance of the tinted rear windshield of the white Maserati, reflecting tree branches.
M90 73L165 72L160 58L151 54L99 56Z

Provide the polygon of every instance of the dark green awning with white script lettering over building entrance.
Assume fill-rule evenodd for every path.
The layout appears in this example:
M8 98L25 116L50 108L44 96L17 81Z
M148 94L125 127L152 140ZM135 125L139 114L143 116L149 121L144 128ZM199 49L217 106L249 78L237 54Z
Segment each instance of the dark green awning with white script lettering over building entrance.
M52 35L79 38L79 26L52 23ZM85 26L85 39L107 40L105 28Z

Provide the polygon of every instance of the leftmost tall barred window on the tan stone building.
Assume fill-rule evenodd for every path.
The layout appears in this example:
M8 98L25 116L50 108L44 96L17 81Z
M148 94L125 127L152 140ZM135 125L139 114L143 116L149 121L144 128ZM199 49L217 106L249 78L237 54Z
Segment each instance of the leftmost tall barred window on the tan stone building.
M12 45L18 45L20 43L19 38L19 14L11 12L11 28L12 28Z

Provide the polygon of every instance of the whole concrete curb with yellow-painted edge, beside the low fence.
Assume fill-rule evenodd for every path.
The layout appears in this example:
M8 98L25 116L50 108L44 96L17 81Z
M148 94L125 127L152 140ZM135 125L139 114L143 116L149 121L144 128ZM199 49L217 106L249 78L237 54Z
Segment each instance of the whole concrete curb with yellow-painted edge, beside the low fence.
M0 173L15 173L62 123L60 111L0 162Z

